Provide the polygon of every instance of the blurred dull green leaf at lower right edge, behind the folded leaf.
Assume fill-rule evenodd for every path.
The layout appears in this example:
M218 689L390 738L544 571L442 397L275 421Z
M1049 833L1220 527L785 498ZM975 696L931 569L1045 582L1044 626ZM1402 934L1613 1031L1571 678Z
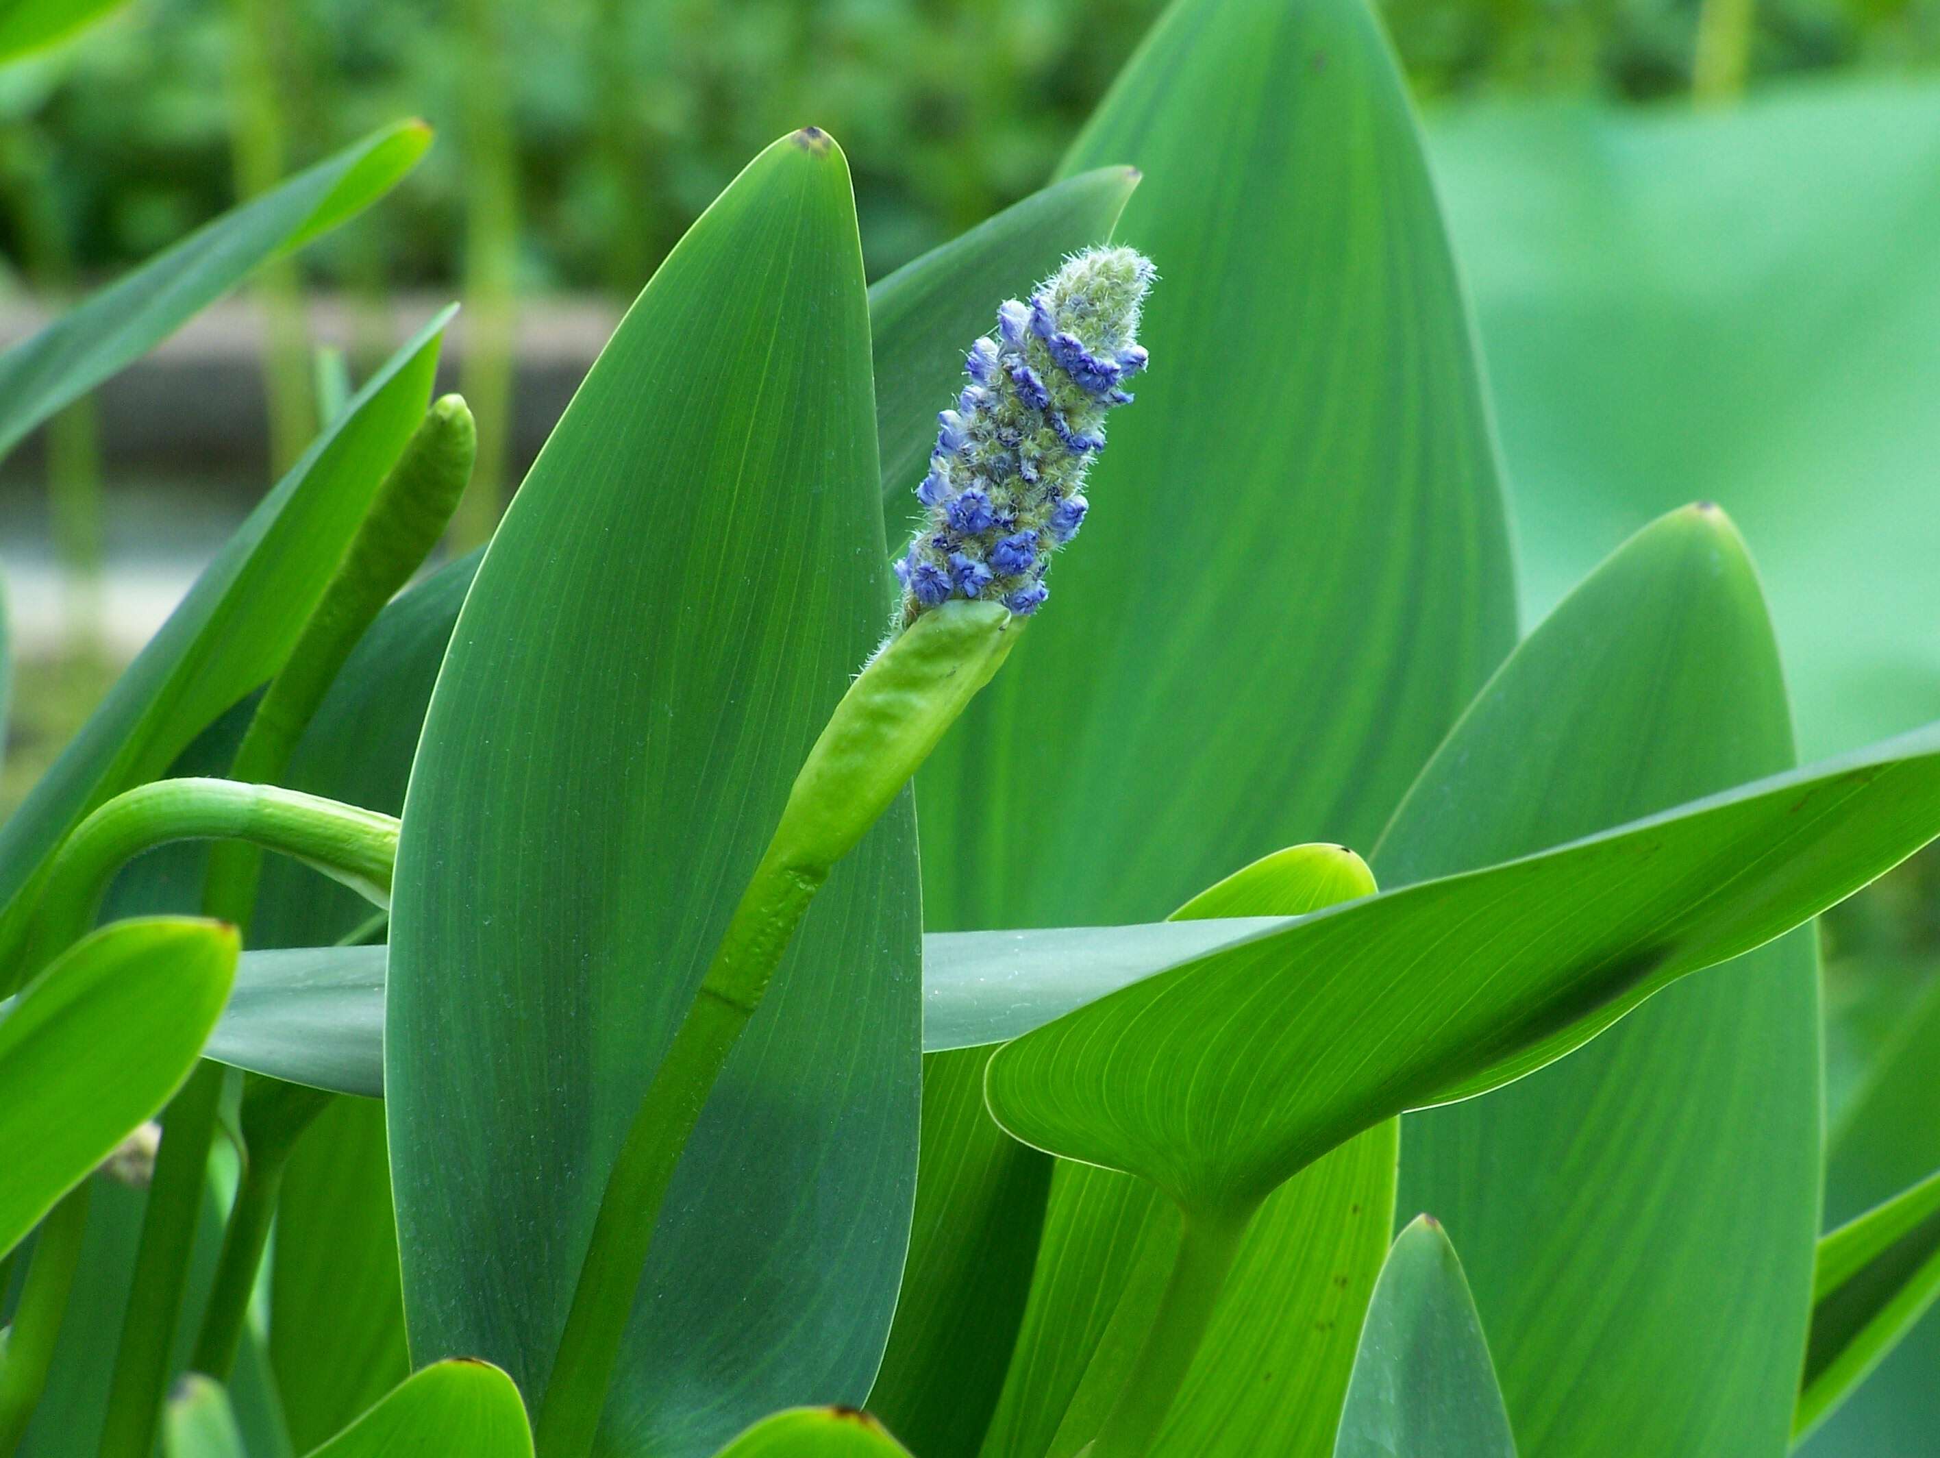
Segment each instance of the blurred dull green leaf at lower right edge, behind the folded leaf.
M1826 1140L1826 1221L1843 1227L1886 1204L1940 1169L1940 990L1903 1017L1890 1043L1855 1091L1843 1118ZM1911 1244L1901 1248L1907 1254ZM1874 1287L1876 1291L1876 1287ZM1880 1301L1890 1305L1890 1297ZM1818 1322L1814 1320L1814 1328ZM1829 1332L1831 1328L1827 1328ZM1878 1336L1888 1330L1880 1328ZM1824 1345L1824 1338L1816 1336ZM1824 1388L1824 1411L1800 1417L1820 1427L1804 1441L1802 1458L1874 1458L1919 1452L1940 1423L1940 1312L1899 1338L1857 1390ZM1847 1369L1853 1371L1853 1369ZM1833 1382L1841 1373L1831 1373Z

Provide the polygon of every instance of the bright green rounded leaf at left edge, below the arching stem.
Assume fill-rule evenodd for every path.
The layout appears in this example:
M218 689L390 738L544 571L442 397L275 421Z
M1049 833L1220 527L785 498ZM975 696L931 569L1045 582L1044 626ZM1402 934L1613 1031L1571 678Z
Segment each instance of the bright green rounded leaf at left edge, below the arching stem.
M180 1087L235 963L215 922L116 922L21 994L0 1021L0 1254Z

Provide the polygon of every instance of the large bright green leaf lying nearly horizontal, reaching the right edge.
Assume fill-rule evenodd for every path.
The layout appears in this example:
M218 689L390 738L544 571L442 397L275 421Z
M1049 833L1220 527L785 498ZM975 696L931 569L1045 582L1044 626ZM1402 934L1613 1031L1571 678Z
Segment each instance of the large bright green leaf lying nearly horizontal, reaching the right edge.
M1389 1114L1560 1058L1934 835L1940 726L1255 934L1003 1044L989 1107L1228 1209Z

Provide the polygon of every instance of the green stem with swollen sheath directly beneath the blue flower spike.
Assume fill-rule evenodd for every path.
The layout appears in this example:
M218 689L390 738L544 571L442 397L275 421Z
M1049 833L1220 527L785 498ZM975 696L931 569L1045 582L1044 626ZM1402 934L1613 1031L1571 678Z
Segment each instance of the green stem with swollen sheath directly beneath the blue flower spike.
M991 679L1020 627L997 604L925 613L869 660L809 749L607 1176L539 1404L539 1458L592 1452L673 1171L809 903Z

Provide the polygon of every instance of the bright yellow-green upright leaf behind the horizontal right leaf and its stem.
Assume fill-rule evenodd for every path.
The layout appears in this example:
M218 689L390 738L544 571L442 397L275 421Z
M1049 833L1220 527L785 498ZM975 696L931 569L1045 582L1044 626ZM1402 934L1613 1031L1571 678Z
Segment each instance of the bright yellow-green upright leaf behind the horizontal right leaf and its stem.
M1360 856L1292 846L1201 891L1174 916L1298 916L1372 891ZM1154 1454L1331 1448L1393 1208L1393 1122L1267 1200ZM1057 1163L1030 1307L984 1458L1065 1458L1096 1437L1152 1326L1178 1243L1178 1209L1152 1186Z

